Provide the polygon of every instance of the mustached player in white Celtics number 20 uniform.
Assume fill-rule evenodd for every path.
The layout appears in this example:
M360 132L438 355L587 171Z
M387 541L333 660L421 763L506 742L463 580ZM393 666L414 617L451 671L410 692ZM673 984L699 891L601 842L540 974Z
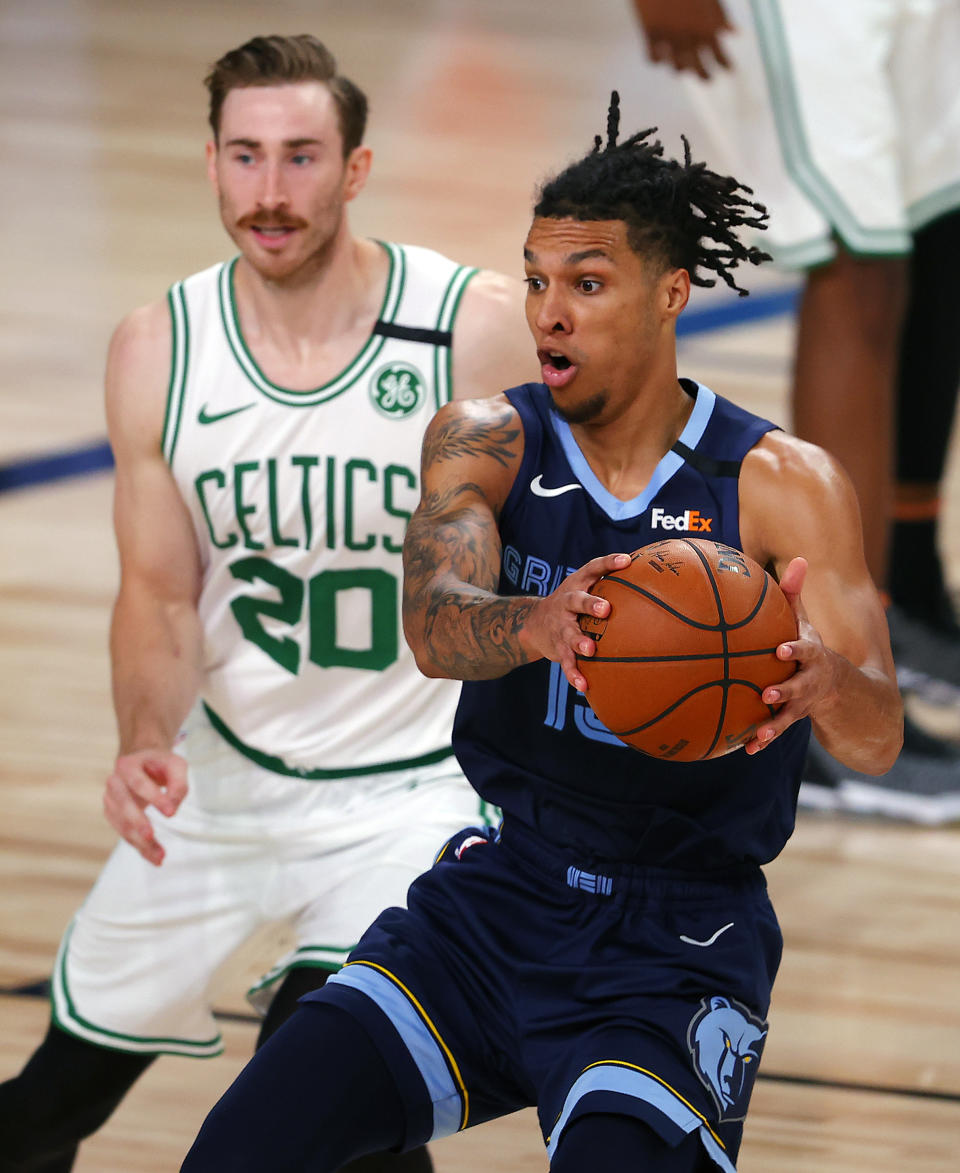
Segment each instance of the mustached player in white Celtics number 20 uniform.
M63 1173L156 1055L216 1055L214 971L284 921L262 1042L489 814L452 755L459 686L403 638L400 551L433 412L538 378L522 285L351 233L366 100L315 38L255 38L207 86L239 255L110 345L124 841L63 937L46 1040L0 1086L2 1169Z

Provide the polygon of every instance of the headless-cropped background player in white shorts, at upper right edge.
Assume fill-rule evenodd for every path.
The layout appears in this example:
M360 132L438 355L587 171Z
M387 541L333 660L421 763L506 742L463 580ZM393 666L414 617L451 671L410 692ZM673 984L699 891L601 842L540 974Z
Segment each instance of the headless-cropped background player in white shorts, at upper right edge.
M775 262L804 272L793 427L857 488L901 682L960 689L938 549L960 391L960 5L633 2L711 151L763 191ZM814 802L844 806L850 788L858 809L937 821L960 801L960 753L910 721L883 780L812 751Z

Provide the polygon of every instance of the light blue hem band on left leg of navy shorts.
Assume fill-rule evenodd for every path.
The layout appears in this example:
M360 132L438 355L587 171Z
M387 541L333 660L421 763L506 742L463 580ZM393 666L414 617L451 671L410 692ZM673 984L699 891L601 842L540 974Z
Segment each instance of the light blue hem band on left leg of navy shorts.
M370 965L347 965L326 979L327 985L337 982L365 994L397 1028L433 1103L433 1134L430 1139L439 1140L459 1132L464 1117L462 1097L437 1040L410 999L388 977Z

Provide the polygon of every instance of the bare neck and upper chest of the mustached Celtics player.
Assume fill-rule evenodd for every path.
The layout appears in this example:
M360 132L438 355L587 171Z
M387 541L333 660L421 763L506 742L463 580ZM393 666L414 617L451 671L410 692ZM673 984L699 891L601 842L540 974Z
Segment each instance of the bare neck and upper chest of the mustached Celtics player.
M349 232L283 280L241 257L234 274L237 313L264 373L289 388L333 378L370 335L388 267L379 244Z

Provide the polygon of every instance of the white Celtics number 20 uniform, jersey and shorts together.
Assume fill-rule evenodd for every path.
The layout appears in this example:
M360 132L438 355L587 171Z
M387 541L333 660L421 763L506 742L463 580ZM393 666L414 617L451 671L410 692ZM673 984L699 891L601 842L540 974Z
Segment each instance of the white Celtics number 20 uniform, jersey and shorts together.
M62 1029L130 1051L222 1050L209 985L265 922L293 965L337 969L459 828L491 821L449 745L459 683L403 636L401 545L420 447L451 398L451 335L476 272L384 244L380 319L315 391L248 351L234 264L173 287L163 452L203 565L204 679L177 752L189 793L153 819L160 868L121 842L65 935Z

